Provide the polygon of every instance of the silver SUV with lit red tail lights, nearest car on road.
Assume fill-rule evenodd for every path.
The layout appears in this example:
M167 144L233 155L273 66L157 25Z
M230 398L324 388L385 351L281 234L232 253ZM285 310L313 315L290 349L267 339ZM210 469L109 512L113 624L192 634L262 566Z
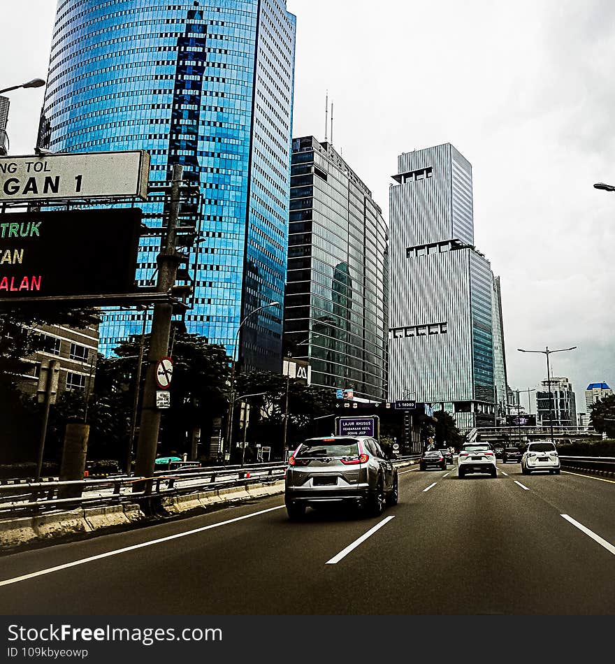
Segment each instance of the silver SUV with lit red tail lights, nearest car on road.
M310 505L350 503L381 514L398 501L397 469L370 436L308 438L289 459L284 500L289 519Z

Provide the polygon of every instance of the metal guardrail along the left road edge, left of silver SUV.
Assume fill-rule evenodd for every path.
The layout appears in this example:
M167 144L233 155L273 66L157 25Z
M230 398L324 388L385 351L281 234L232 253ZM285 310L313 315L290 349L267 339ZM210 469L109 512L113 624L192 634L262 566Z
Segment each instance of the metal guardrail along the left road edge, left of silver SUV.
M393 463L419 459L420 454L398 456ZM0 517L31 516L48 510L77 507L105 507L133 503L141 498L167 497L245 486L257 482L276 482L284 478L287 463L210 466L198 470L161 471L154 477L116 476L108 479L77 479L68 482L29 482L0 485ZM133 491L137 482L151 482L152 491ZM80 489L80 496L59 498L61 489Z

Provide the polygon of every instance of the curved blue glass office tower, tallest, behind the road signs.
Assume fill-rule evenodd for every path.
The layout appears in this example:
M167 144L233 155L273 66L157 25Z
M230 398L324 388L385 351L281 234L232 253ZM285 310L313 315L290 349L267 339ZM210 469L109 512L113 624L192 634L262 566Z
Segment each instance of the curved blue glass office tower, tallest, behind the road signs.
M147 150L152 185L183 164L203 203L187 331L229 354L238 339L246 368L281 366L281 306L239 325L284 295L295 32L285 0L61 0L53 33L39 144ZM158 251L159 238L142 238L138 285ZM103 352L140 333L140 319L108 312Z

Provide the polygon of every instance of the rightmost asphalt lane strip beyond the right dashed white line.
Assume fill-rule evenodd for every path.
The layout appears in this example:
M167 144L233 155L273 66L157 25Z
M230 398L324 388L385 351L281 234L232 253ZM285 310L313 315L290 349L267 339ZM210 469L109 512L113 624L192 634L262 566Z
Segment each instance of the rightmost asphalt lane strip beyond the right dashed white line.
M606 540L615 544L615 479L584 476L565 470L560 475L533 472L531 475L513 472L510 477L524 484L560 514L570 514Z

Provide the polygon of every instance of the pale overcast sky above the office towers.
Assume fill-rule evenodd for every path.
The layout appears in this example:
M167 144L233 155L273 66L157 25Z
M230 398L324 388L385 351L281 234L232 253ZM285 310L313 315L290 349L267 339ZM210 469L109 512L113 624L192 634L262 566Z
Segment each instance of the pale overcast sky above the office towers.
M3 0L0 88L46 78L56 0ZM294 136L333 145L389 216L397 155L452 143L472 164L475 243L502 282L508 382L551 356L585 411L615 387L615 3L288 0L297 15ZM10 152L31 154L43 89L10 93ZM527 398L527 394L524 395Z

